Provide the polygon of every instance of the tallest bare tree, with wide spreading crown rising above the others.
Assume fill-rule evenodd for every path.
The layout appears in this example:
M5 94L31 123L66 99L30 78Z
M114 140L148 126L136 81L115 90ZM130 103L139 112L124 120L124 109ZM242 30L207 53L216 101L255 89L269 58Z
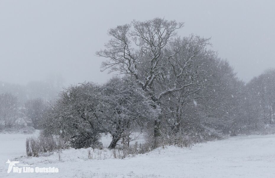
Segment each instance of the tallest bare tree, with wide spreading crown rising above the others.
M215 56L206 49L210 45L208 38L180 38L177 30L182 27L182 22L155 18L145 22L133 20L131 24L109 29L112 39L105 44L106 49L96 52L109 58L102 62L102 69L135 77L155 102L155 108L159 108L164 96L196 85L194 81L205 71L193 67L193 61ZM190 72L190 66L196 70ZM165 83L168 77L169 83ZM186 82L189 77L192 80ZM155 118L155 137L159 135L160 120Z

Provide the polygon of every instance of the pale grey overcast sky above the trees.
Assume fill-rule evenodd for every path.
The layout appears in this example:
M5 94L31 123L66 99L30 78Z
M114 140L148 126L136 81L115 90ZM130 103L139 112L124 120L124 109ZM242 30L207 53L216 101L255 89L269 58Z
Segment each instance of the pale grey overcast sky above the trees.
M248 81L275 67L275 1L0 0L0 81L26 84L63 75L102 83L95 51L107 29L132 19L185 22L180 35L212 37L213 49Z

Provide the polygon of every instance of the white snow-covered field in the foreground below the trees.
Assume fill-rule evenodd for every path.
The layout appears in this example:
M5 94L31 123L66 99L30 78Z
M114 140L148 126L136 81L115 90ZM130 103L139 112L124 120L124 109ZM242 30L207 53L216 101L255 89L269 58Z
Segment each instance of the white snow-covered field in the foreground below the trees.
M112 152L69 149L50 156L25 157L25 138L0 134L0 177L275 177L275 135L230 137L190 148L167 146L144 155L114 159ZM24 157L20 157L24 156ZM58 173L9 173L10 161L30 167L56 167ZM94 159L96 157L96 159Z

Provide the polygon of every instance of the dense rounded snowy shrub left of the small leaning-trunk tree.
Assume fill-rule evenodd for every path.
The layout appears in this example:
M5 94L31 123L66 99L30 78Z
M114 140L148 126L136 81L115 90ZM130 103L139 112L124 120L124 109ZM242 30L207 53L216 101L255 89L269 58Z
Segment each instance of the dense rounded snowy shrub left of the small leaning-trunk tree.
M73 148L100 147L102 128L100 87L93 83L70 86L43 115L42 135L59 135Z

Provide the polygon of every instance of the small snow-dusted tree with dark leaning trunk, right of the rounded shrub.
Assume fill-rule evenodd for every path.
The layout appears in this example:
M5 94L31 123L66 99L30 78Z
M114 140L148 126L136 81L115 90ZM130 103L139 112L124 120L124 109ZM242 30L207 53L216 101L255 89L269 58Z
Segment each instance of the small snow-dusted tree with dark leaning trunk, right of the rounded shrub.
M130 77L109 80L102 87L100 101L103 127L112 135L109 148L114 148L132 126L144 125L158 115L151 99Z

